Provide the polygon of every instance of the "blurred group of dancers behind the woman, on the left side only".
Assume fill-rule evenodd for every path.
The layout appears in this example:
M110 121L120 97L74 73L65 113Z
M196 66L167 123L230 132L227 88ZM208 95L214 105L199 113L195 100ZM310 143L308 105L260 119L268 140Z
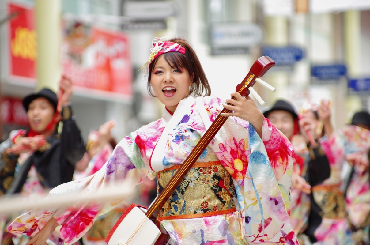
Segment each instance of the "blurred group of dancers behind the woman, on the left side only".
M0 144L0 198L20 195L22 201L32 201L60 184L94 174L110 158L117 144L111 134L115 122L104 122L84 142L70 103L72 87L72 81L62 76L58 95L42 88L23 98L30 127L11 131ZM131 200L148 207L157 195L155 181L148 179L137 188ZM105 244L104 239L128 205L122 203L100 216L78 244ZM26 236L6 231L9 222L24 212L0 215L1 244L26 243Z

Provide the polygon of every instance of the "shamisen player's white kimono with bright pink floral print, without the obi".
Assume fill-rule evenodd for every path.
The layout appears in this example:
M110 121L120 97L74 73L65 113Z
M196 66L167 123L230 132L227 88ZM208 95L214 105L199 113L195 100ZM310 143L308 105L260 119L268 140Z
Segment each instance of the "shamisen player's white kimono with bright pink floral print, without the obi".
M180 101L174 115L165 111L163 118L125 137L101 170L91 177L60 185L50 195L70 190L95 193L108 184L124 180L137 184L147 176L155 177L153 169L156 166L168 168L181 164L184 156L204 134L204 120L214 121L224 102L210 96L204 97L203 103L208 118L203 118L198 112L194 97L185 98ZM167 140L159 145L157 143L164 132L168 132L165 135ZM154 148L162 153L154 156ZM198 159L201 162L217 160L233 178L238 211L204 218L161 221L171 236L169 244L187 241L191 244L298 245L289 219L293 165L293 149L289 140L266 119L261 139L248 122L228 118ZM215 170L203 168L203 171ZM191 174L188 178L192 178ZM204 181L212 188L207 179ZM202 203L204 208L209 205L207 200ZM104 214L119 202L110 200L94 206L76 204L73 208L34 209L13 221L9 230L34 235L52 215L61 225L61 229L54 232L53 241L58 245L63 242L72 244L87 231L97 215Z

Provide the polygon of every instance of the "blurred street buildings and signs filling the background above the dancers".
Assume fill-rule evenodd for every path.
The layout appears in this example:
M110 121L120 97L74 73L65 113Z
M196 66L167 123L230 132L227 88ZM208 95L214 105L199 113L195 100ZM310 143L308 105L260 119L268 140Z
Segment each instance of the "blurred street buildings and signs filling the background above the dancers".
M40 85L36 75L50 72L39 67L34 78L11 74L16 72L10 71L12 67L19 67L21 73L27 69L27 63L11 60L14 37L10 23L21 15L11 12L12 4L37 9L34 18L41 23L47 23L47 15L37 13L60 13L63 24L58 32L63 41L61 55L54 57L60 60L54 73L64 72L77 81L72 103L85 137L114 119L117 127L113 133L121 139L162 115L163 108L147 93L144 74L137 71L148 60L154 37L182 36L189 40L208 75L212 93L223 99L235 91L257 58L269 55L276 66L262 78L276 88L276 93L255 86L266 102L261 110L280 97L291 100L297 109L306 101L329 99L334 124L341 127L354 112L370 106L370 3L366 1L53 0L59 5L50 9L43 1L50 0L0 1L0 95L3 100L7 98L1 107L3 137L12 128L26 127L24 117L14 113L21 110L16 104ZM28 30L32 28L37 33L35 25ZM101 40L113 41L104 46ZM26 43L20 41L19 45L26 49ZM94 45L89 46L91 43ZM110 61L110 85L105 82L107 66L101 57ZM71 63L66 64L65 59ZM71 65L76 63L84 73L77 74L78 69ZM91 63L93 68L86 70ZM90 81L97 71L103 75L95 75L97 80ZM56 88L57 78L48 79ZM114 80L125 82L114 85Z

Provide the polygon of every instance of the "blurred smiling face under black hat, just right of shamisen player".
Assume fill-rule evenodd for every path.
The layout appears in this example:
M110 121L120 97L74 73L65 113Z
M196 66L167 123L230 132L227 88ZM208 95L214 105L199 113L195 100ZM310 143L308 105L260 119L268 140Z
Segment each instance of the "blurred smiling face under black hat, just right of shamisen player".
M272 111L269 113L268 119L288 139L292 137L294 131L294 118L291 113L284 110Z

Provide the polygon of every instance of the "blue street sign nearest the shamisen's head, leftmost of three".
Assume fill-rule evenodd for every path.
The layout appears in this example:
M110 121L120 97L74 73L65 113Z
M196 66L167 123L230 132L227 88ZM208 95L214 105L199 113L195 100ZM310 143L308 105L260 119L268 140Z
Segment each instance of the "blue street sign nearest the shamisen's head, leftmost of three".
M302 48L295 46L263 47L262 56L265 55L272 58L276 62L276 66L292 65L295 62L302 60L303 50Z

